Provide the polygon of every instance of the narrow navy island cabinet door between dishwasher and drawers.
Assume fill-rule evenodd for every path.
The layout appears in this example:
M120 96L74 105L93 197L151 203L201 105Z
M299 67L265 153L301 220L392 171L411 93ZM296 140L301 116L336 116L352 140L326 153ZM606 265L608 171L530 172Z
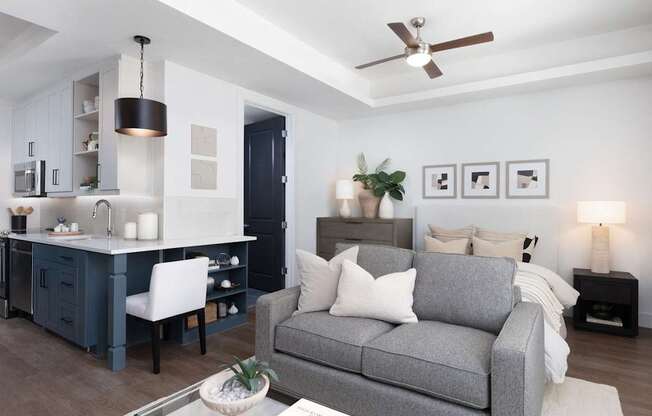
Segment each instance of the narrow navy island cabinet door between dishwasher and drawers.
M34 262L34 322L55 330L59 324L56 313L56 288L58 267L54 263L36 260Z

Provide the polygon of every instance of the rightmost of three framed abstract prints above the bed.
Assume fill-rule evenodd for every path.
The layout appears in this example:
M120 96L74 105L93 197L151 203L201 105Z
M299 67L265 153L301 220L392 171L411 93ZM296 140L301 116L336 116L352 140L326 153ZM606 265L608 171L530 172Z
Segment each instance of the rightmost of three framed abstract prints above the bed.
M507 198L548 198L550 196L550 160L513 160L507 162Z

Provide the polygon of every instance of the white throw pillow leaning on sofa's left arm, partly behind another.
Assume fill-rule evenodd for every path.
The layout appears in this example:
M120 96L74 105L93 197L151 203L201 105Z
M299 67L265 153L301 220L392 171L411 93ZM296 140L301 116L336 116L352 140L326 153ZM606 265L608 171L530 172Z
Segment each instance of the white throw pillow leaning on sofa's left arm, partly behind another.
M342 262L358 262L358 246L344 250L330 261L303 250L297 250L297 269L301 280L299 308L295 314L327 311L337 297L337 284Z

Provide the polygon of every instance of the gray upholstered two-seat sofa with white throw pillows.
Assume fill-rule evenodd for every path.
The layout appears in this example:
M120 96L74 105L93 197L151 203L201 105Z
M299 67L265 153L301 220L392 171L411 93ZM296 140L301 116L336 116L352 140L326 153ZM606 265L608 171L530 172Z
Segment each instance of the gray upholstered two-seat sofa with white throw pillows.
M358 264L375 277L415 267L419 322L292 316L298 287L262 296L256 356L275 390L355 416L541 413L543 312L515 301L512 260L360 245Z

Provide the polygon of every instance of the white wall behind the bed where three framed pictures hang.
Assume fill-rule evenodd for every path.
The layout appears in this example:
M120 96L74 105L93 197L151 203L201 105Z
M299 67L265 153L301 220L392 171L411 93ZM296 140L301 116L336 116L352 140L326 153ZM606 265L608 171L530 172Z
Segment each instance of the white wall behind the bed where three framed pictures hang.
M652 78L641 78L347 121L340 125L338 176L354 173L359 152L370 164L392 157L392 168L408 174L397 214L411 216L423 201L424 165L550 158L550 200L525 203L559 206L561 274L570 280L573 267L589 264L590 227L576 223L575 202L626 201L627 224L611 227L612 267L640 279L641 323L652 326L651 114ZM501 176L500 200L451 203L479 210L515 204L504 198Z

